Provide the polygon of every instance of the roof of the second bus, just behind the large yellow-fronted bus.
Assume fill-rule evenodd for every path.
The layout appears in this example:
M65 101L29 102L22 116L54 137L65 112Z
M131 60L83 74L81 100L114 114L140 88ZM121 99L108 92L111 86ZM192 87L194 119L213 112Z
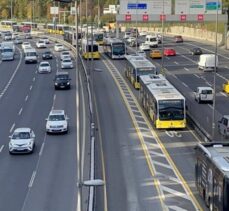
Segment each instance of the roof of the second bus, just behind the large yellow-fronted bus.
M156 69L156 66L153 65L148 59L139 55L126 55L126 59L134 68L153 68Z

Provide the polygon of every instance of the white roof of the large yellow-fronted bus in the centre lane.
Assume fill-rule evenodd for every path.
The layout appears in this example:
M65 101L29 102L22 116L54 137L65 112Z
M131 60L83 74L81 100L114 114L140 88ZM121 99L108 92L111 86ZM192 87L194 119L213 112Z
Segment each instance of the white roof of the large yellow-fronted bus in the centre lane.
M156 100L185 99L167 80L150 83L147 85L147 88Z

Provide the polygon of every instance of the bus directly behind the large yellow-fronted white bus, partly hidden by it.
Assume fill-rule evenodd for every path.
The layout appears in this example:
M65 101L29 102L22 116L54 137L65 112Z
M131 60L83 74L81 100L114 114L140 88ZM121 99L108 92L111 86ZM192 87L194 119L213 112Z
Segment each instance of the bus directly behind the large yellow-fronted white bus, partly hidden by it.
M156 66L147 58L139 55L126 55L125 74L135 89L140 88L139 76L157 74Z

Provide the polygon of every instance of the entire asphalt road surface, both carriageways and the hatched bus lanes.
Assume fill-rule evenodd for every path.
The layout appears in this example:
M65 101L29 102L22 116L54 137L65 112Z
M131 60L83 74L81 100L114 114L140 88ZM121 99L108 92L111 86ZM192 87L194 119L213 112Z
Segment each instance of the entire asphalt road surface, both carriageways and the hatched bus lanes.
M36 40L31 40L35 46ZM175 44L167 37L165 47L174 47L177 56L166 57L166 77L186 97L188 112L211 135L212 105L198 104L193 91L197 86L210 86L213 74L198 70L198 56L190 49L198 46L214 52L209 43L185 40ZM49 44L53 51L53 44ZM39 58L44 50L38 49ZM76 143L76 71L71 75L71 90L54 90L54 76L60 71L60 53L50 60L51 74L38 74L36 64L24 64L22 49L16 49L12 62L0 64L0 210L76 210L77 143ZM228 96L222 83L229 75L229 57L219 49L216 75L216 120L227 114ZM124 74L125 60L106 57L93 61L93 97L96 114L96 177L105 181L96 190L96 210L207 210L195 188L194 146L203 141L191 128L155 130ZM155 60L158 67L161 60ZM84 87L85 79L80 80ZM81 133L89 121L87 94L80 89ZM47 135L45 118L50 110L64 109L70 117L70 130L64 135ZM86 116L86 117L85 117ZM36 148L31 155L9 155L8 136L17 127L31 127L36 134ZM89 140L89 130L82 139ZM86 138L85 138L86 136ZM216 131L217 140L223 138ZM85 144L85 145L84 145ZM80 144L86 161L89 143ZM86 150L85 150L86 148ZM83 149L83 150L82 150ZM83 159L83 160L84 160ZM88 173L85 174L85 179ZM85 206L87 196L83 195Z

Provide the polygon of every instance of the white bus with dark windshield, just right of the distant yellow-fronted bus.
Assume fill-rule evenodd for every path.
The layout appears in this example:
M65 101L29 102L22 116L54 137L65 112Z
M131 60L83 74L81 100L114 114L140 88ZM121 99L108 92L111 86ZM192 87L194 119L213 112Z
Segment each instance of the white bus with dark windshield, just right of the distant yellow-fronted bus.
M126 44L117 38L106 38L104 39L103 51L111 59L125 59Z

